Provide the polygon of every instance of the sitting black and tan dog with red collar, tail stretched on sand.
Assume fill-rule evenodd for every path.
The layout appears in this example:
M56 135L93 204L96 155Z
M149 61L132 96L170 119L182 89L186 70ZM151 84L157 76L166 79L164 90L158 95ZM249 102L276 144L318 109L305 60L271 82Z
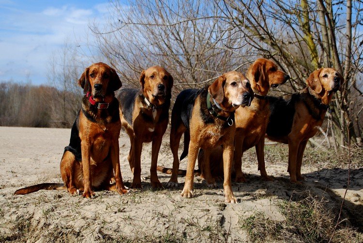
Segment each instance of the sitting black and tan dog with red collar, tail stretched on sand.
M64 184L44 183L15 191L27 194L40 189L67 189L71 194L83 191L94 197L94 189L127 192L122 182L119 158L121 121L119 102L114 91L121 87L116 71L105 63L86 68L78 84L86 94L71 130L70 143L61 159ZM115 176L116 184L110 185Z

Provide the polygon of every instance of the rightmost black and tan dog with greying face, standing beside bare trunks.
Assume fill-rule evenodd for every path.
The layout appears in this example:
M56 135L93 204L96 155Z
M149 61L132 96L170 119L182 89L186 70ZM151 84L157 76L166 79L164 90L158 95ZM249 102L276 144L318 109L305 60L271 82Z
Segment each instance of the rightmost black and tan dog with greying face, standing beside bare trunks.
M303 180L302 156L306 143L323 123L333 94L343 77L333 68L312 72L301 92L279 98L269 97L270 121L267 137L288 144L288 167L291 182ZM264 169L264 168L261 168Z

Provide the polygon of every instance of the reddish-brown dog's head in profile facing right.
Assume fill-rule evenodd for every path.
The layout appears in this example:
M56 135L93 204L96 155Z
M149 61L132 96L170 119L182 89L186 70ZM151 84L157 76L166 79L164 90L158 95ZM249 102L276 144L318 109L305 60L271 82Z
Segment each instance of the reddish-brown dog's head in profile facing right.
M267 95L270 87L285 84L290 78L285 72L278 70L277 65L268 59L258 58L247 71L252 89L260 95Z

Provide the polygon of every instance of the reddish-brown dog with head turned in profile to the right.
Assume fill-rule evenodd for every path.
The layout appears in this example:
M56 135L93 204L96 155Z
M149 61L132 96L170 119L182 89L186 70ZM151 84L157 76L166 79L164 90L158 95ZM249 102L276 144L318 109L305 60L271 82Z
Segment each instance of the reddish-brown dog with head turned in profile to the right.
M265 170L265 158L263 147L265 133L270 116L269 100L266 98L270 87L284 84L289 76L278 70L275 63L268 59L259 58L249 68L246 77L251 82L251 88L255 93L255 99L250 106L239 107L235 113L236 132L234 135L234 168L236 182L245 182L241 166L242 154L247 149L256 146L258 170L261 176L269 179ZM222 149L216 147L211 152L210 168L212 176L223 176ZM204 151L198 156L198 166L201 176L204 177Z

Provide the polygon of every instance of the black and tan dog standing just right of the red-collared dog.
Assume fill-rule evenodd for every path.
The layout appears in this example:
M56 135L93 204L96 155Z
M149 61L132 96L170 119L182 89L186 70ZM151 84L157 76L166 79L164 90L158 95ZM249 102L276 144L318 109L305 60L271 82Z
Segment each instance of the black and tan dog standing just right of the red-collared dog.
M141 149L152 141L150 180L153 188L161 188L156 174L157 160L163 135L169 120L173 77L162 67L151 67L140 75L141 89L122 89L120 100L121 124L130 137L128 160L134 173L132 188L141 188Z

